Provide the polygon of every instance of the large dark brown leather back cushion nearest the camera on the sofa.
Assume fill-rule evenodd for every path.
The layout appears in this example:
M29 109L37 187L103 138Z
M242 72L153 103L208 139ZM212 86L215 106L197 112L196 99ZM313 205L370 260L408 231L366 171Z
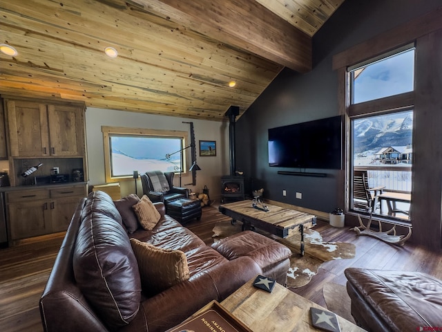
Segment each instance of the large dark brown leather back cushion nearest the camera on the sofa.
M80 225L73 270L81 293L115 330L131 322L140 308L140 273L126 231L98 210Z

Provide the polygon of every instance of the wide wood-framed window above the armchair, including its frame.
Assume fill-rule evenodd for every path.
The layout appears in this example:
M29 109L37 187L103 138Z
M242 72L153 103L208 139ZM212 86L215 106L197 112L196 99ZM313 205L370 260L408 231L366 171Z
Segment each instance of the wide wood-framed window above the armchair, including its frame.
M145 173L186 172L186 131L162 131L102 127L106 181L132 178L133 171Z

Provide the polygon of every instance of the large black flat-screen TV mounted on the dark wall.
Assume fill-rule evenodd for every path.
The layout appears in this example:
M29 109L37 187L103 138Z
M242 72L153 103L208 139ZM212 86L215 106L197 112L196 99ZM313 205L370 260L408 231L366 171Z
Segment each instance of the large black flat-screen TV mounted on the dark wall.
M269 129L269 166L341 169L342 116Z

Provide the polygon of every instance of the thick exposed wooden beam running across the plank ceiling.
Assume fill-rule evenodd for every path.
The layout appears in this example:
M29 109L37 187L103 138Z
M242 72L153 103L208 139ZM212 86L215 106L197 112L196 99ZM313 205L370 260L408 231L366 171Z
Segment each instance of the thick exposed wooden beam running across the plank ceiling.
M256 1L131 0L130 3L294 71L311 71L311 37Z

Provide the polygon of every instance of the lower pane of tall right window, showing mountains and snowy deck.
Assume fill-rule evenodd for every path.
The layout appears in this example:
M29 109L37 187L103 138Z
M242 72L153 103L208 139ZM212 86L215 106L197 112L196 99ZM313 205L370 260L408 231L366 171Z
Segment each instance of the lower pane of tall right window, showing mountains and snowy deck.
M413 111L353 119L352 138L352 208L362 212L368 208L367 200L358 195L358 180L364 174L373 214L407 220L412 190Z

